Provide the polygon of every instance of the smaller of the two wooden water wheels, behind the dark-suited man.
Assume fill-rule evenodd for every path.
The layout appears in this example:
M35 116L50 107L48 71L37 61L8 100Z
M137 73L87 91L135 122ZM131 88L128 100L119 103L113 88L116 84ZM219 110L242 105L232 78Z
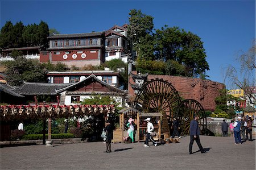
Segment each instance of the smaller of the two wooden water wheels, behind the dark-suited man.
M195 99L185 99L180 103L175 115L180 123L181 135L189 135L190 122L193 120L194 115L199 115L199 127L201 134L204 134L207 129L207 117L203 106Z

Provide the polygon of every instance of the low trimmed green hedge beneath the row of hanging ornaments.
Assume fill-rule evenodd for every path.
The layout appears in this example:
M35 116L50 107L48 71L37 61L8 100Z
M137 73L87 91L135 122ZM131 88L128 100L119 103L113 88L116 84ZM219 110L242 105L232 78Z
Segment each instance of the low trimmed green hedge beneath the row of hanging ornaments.
M46 134L46 139L48 138L48 134ZM65 139L65 138L75 138L73 134L52 134L51 139ZM22 136L22 140L38 140L43 139L43 134L28 134Z

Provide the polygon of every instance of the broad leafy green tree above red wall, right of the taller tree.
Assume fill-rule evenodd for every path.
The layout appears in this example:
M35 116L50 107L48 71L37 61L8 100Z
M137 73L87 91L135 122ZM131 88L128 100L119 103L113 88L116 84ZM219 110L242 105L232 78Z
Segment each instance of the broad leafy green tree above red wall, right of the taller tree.
M185 67L185 76L197 77L209 70L205 49L199 36L179 27L156 30L156 59L174 60Z

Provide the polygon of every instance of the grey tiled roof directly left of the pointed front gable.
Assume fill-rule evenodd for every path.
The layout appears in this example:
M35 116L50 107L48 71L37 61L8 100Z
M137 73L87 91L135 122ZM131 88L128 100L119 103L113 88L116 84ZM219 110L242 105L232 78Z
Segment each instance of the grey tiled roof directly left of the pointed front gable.
M24 82L16 88L22 95L56 95L56 90L63 89L72 84L49 84L42 82Z

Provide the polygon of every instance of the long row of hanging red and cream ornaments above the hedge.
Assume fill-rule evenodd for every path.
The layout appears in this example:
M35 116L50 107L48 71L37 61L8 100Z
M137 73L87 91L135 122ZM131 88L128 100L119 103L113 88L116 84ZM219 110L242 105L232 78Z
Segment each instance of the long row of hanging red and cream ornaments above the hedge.
M9 105L0 106L0 121L68 118L91 114L114 113L114 105Z

